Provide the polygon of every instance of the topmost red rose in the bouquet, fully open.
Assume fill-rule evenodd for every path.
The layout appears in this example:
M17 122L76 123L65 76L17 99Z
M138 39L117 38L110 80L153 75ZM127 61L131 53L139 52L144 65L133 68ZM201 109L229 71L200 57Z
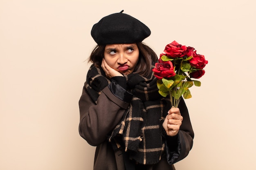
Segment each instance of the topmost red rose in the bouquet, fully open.
M166 45L164 49L164 53L162 53L160 57L162 57L162 55L166 55L167 57L170 57L170 58L177 58L177 57L181 58L184 55L186 55L186 50L187 50L186 46L183 46L177 43L176 41L173 41L171 44Z

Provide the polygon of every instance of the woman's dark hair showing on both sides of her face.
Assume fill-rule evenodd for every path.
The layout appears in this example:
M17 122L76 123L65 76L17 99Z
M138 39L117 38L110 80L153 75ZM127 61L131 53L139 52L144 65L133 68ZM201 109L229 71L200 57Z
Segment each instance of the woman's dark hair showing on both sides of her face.
M139 61L134 69L134 73L138 73L143 77L151 75L151 66L157 62L157 54L146 44L142 42L136 43L139 49ZM92 62L95 66L100 67L101 61L104 57L106 45L97 45L92 51L89 62Z

